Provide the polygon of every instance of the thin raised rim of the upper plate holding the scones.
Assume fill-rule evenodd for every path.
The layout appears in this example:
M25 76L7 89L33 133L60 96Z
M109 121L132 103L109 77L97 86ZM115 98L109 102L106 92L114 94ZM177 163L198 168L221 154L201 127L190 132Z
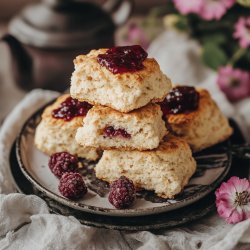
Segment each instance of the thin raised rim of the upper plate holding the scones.
M55 98L56 99L56 98ZM18 133L17 139L16 139L16 157L18 161L18 165L25 175L25 177L33 184L35 187L41 191L42 193L46 194L48 197L51 199L54 199L63 205L69 206L73 209L76 209L78 211L83 211L83 212L89 212L92 214L100 214L100 215L106 215L106 216L122 216L122 217L132 217L132 216L144 216L144 215L152 215L156 213L163 213L163 212L168 212L172 210L176 210L179 208L183 208L185 206L188 206L194 202L197 202L198 200L202 199L206 195L208 195L210 192L212 192L218 185L219 183L224 179L224 177L227 175L229 172L231 165L232 165L232 153L227 150L226 154L228 156L228 161L227 161L227 166L223 170L223 172L217 177L216 180L214 180L211 184L206 185L205 190L202 192L202 194L195 193L192 196L185 198L185 202L181 203L172 203L168 205L163 205L160 207L152 207L152 208L137 208L137 209L116 209L116 208L102 208L98 206L92 206L92 205L85 205L82 203L79 203L77 201L72 201L67 198L64 198L62 196L59 196L52 191L48 190L46 187L43 187L38 181L35 180L34 177L29 173L29 171L26 169L25 164L23 163L22 157L21 157L21 139L23 132L28 124L28 122L34 118L37 117L38 115L41 115L42 111L51 103L55 101L53 99L52 101L46 103L43 105L41 108L33 112L25 121L23 124L20 132Z

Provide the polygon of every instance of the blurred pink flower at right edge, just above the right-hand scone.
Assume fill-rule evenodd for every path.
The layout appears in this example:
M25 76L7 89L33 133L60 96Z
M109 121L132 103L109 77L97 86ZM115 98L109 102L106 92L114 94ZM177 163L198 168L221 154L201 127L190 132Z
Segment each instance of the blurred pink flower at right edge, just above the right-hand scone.
M250 73L231 66L221 67L217 83L230 101L250 96Z

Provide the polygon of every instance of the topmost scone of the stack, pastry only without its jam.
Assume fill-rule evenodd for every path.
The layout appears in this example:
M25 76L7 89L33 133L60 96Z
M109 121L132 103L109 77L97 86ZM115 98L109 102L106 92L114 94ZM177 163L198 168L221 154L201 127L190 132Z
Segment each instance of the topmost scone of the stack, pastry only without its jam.
M171 81L155 59L145 59L141 70L114 74L97 60L106 51L92 50L76 57L70 87L73 98L127 113L150 101L161 101L171 89Z

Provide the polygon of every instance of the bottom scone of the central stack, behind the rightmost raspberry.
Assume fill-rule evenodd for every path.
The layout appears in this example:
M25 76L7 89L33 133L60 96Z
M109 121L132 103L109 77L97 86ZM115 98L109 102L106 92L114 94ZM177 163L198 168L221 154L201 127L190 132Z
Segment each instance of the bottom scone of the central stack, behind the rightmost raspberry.
M169 137L151 151L105 150L95 167L96 176L112 182L124 175L136 187L173 198L187 185L196 162L186 141Z

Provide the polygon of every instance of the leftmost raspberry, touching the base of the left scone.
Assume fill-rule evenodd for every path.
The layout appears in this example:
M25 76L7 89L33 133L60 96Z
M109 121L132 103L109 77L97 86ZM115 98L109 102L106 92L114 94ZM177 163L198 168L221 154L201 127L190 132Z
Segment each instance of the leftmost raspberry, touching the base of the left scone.
M66 172L77 170L78 158L67 152L59 152L50 156L49 168L51 172L60 178Z

